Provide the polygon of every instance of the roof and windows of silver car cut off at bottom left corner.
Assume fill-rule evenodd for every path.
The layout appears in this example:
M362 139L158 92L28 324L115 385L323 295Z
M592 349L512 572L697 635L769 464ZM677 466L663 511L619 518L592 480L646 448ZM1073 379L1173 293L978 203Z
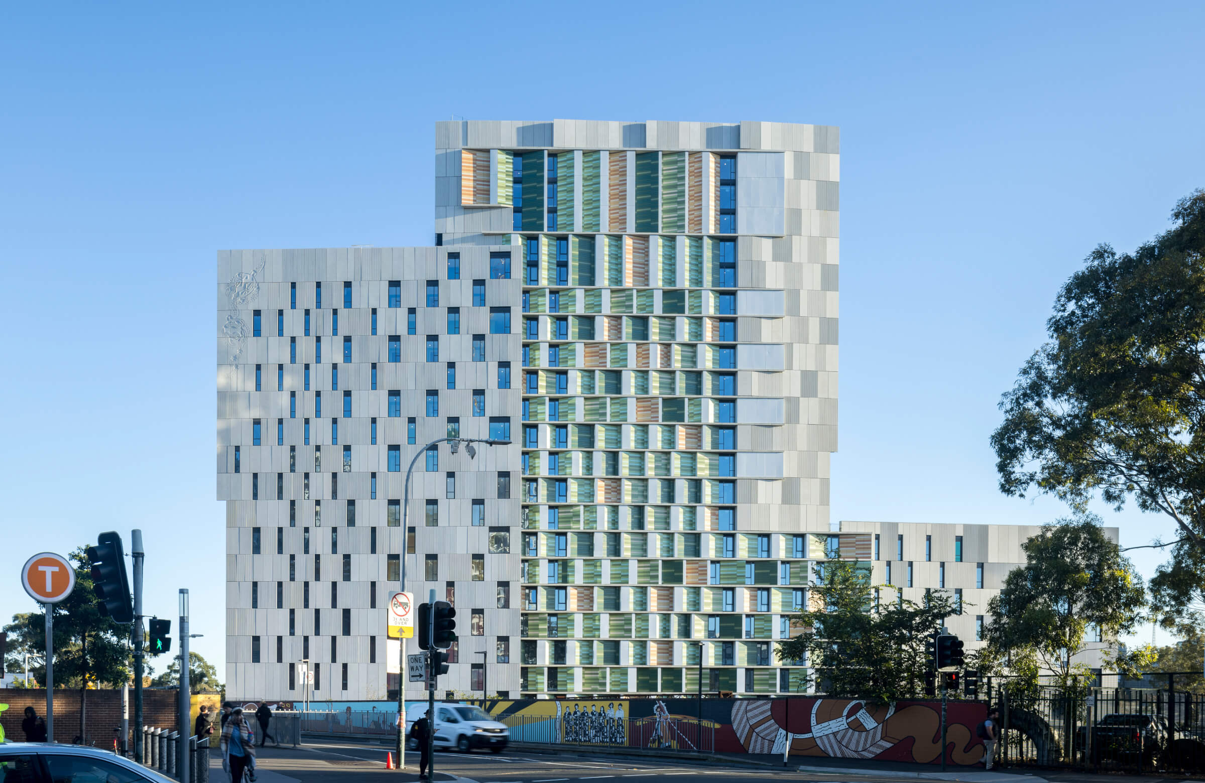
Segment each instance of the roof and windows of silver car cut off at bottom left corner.
M178 783L108 750L55 742L0 744L0 783Z

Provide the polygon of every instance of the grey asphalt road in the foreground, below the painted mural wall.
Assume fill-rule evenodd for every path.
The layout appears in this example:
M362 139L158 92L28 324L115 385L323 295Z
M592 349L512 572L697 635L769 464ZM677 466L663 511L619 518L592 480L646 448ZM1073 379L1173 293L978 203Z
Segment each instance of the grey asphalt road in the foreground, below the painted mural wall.
M407 753L411 769L396 772L384 770L389 748L381 744L346 741L315 741L301 748L263 748L258 758L258 783L345 783L348 773L368 783L408 783L418 778L418 754ZM487 752L435 754L435 779L468 779L476 783L642 783L649 778L681 778L682 783L727 783L729 781L809 781L851 782L858 776L818 775L790 767L751 767L725 765L723 761L694 763L678 759L617 758L605 754L533 753L507 749L499 754ZM865 778L860 778L865 779ZM915 778L900 778L917 783ZM210 783L229 783L221 764L211 767ZM876 778L889 783L889 778Z

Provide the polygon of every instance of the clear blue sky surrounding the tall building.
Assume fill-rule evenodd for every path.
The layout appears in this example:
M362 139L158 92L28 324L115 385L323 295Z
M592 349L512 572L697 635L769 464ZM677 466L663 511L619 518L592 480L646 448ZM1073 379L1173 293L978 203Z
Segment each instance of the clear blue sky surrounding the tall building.
M453 116L840 125L833 517L1063 512L997 490L995 405L1088 251L1205 186L1205 7L415 5L6 8L0 618L29 554L141 526L148 612L190 588L223 660L214 252L430 243Z

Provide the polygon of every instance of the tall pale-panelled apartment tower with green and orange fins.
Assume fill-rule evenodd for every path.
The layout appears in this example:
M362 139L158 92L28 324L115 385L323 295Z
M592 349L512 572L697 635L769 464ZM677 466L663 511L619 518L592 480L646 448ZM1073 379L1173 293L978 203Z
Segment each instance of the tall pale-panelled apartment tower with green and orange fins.
M836 448L837 131L441 122L436 246L218 254L228 690L798 690ZM325 407L323 407L325 404ZM441 437L511 446L452 453ZM417 458L402 523L402 479ZM823 551L819 552L823 554ZM395 653L394 653L395 654Z

